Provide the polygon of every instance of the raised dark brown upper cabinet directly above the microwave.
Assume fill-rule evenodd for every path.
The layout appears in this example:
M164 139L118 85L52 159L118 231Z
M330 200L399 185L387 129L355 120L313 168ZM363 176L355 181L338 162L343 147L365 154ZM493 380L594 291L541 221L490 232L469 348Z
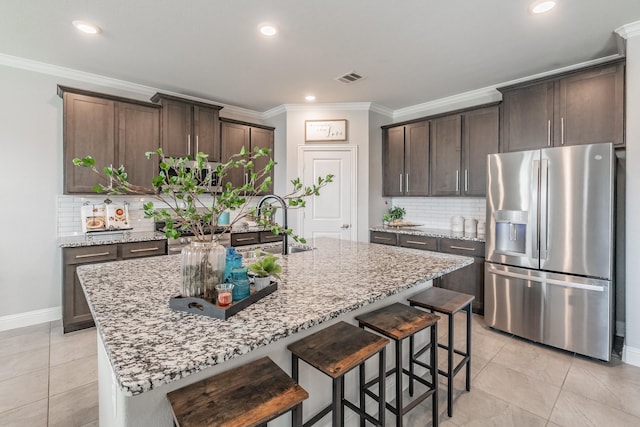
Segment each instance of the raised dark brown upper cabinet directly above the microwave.
M162 105L161 139L166 156L195 158L203 152L209 161L220 161L219 105L156 93Z

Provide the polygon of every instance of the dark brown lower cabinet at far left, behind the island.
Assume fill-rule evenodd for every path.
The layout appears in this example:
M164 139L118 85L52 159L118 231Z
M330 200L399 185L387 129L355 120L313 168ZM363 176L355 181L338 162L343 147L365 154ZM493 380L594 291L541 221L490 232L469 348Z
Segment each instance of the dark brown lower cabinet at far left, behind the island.
M62 328L64 333L94 326L91 310L76 274L78 266L166 255L166 253L166 240L62 248Z

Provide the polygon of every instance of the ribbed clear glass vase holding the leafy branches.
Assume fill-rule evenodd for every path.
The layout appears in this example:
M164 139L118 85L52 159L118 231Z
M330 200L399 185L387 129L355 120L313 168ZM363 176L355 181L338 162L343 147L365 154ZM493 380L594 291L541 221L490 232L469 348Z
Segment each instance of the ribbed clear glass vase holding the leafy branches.
M193 241L182 249L182 296L215 302L224 276L226 249L216 241Z

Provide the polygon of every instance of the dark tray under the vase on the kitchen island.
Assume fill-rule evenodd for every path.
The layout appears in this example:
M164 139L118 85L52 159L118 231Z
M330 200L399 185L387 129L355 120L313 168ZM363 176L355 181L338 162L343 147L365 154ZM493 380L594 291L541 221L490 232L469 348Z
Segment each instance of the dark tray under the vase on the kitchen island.
M256 291L255 288L251 286L251 294L248 297L241 299L240 301L233 302L227 307L220 307L219 305L203 298L176 296L169 300L169 307L174 310L186 311L187 313L201 314L203 316L227 320L240 310L249 307L254 302L261 300L267 295L275 292L277 289L278 283L273 281L267 287L262 288L259 291Z

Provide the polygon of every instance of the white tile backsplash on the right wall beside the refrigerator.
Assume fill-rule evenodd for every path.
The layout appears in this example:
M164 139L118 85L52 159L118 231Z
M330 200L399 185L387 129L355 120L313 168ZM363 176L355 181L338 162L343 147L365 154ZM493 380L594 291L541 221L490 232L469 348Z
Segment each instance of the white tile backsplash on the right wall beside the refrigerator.
M416 222L429 228L448 230L451 217L486 219L486 199L470 197L396 197L391 206L403 207L405 220Z

